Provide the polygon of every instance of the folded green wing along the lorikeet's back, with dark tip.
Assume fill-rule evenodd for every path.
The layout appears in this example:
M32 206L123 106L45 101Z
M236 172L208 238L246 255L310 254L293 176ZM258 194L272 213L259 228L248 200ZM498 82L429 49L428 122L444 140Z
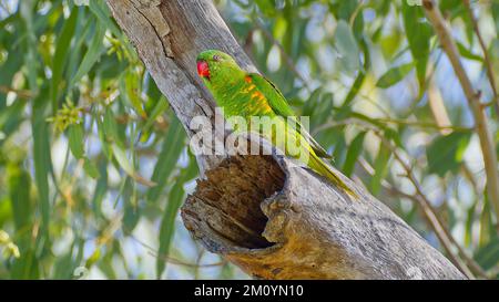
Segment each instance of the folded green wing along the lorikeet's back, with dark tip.
M251 77L253 84L255 84L255 86L259 90L259 92L262 92L263 95L265 95L268 105L276 114L283 117L295 117L296 131L308 142L308 144L310 144L310 147L313 148L313 150L317 156L326 158L332 157L319 145L319 143L317 143L317 140L315 140L314 137L312 137L308 134L305 127L299 123L299 121L296 118L295 113L287 104L287 101L284 97L283 93L277 88L277 86L274 83L272 83L268 79L257 73L249 73L248 76Z

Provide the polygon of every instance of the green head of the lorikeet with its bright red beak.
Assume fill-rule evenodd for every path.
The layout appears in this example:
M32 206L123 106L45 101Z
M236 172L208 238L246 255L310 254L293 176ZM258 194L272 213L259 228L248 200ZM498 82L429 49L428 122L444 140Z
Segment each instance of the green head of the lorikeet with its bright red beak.
M240 65L225 52L206 50L196 59L197 74L210 85L214 81L230 81L235 73L241 72Z

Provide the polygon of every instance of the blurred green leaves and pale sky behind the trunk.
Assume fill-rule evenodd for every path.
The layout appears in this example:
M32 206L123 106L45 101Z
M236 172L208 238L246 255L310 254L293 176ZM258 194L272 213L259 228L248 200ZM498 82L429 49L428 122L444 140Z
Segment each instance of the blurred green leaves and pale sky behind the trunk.
M215 3L337 168L469 275L499 275L472 115L420 1ZM439 7L497 143L499 2ZM0 279L247 278L184 229L196 176L104 1L0 0Z

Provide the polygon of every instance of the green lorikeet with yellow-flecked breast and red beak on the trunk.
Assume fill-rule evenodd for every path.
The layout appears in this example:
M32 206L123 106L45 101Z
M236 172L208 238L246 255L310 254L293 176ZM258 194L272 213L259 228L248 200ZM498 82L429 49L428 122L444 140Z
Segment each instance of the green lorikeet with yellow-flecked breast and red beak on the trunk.
M234 59L217 50L207 50L197 55L197 73L213 94L217 105L223 108L225 118L242 116L268 117L272 127L259 127L258 133L272 142L287 156L301 157L309 168L327 177L336 187L353 197L356 194L333 171L320 157L330 157L326 150L299 124L293 110L281 91L267 79L242 70ZM292 118L292 119L289 119ZM293 121L295 123L289 123ZM294 125L292 125L294 124ZM289 143L291 142L291 143ZM294 149L289 146L295 146Z

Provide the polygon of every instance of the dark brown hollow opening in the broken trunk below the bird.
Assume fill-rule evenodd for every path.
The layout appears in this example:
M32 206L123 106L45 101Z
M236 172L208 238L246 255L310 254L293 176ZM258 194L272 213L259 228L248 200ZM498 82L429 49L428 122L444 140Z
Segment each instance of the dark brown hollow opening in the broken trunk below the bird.
M261 202L282 190L284 180L284 171L269 155L230 157L197 181L182 207L184 223L191 230L207 228L203 231L237 247L267 248L273 243L262 236L267 217Z

